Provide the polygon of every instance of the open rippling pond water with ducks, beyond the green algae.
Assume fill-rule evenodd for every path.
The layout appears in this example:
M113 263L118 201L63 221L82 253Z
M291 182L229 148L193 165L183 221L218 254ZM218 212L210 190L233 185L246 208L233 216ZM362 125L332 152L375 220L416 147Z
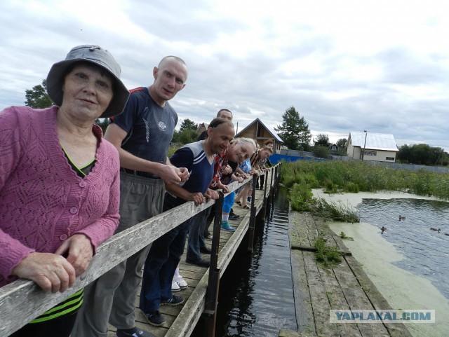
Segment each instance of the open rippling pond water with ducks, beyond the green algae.
M361 221L388 228L384 238L404 256L396 266L426 277L449 299L449 202L363 199L358 209Z

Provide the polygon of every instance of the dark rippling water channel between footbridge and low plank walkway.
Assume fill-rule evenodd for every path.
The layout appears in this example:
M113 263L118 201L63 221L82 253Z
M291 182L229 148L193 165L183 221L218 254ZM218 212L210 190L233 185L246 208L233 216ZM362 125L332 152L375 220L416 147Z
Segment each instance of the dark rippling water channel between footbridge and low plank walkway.
M284 191L256 228L253 254L243 240L220 280L216 336L278 336L279 329L296 330Z

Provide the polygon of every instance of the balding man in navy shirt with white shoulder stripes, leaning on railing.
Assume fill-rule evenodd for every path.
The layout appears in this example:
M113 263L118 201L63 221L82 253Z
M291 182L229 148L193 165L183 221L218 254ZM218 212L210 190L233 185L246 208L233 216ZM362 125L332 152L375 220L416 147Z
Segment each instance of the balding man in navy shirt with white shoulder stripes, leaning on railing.
M218 193L208 188L213 178L213 156L227 149L234 137L234 125L225 119L215 118L207 132L207 139L183 146L170 158L176 167L187 167L190 175L184 184L166 184L168 193L163 203L164 211L187 201L201 205L205 197L218 198ZM165 322L159 312L161 304L179 305L184 302L184 298L172 294L171 282L184 252L189 227L195 221L196 216L193 216L155 240L145 261L140 309L154 326Z

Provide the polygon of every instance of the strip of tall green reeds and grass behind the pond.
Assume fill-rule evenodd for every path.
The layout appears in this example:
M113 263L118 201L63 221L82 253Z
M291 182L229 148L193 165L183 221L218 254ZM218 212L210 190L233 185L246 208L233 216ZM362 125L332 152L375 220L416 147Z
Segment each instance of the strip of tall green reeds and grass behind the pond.
M325 188L326 193L408 191L449 200L447 173L394 170L355 160L284 163L281 182L289 188L292 208L300 211L311 210L314 203L311 188Z

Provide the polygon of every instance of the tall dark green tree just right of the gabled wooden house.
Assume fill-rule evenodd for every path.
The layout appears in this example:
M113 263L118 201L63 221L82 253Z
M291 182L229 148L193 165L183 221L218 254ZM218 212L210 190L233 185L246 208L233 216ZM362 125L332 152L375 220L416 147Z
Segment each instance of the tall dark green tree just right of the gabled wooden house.
M278 125L274 130L279 132L279 137L283 140L284 145L292 150L302 149L305 151L309 149L311 139L309 124L304 117L300 117L295 107L290 106L283 114L282 119L282 125Z

